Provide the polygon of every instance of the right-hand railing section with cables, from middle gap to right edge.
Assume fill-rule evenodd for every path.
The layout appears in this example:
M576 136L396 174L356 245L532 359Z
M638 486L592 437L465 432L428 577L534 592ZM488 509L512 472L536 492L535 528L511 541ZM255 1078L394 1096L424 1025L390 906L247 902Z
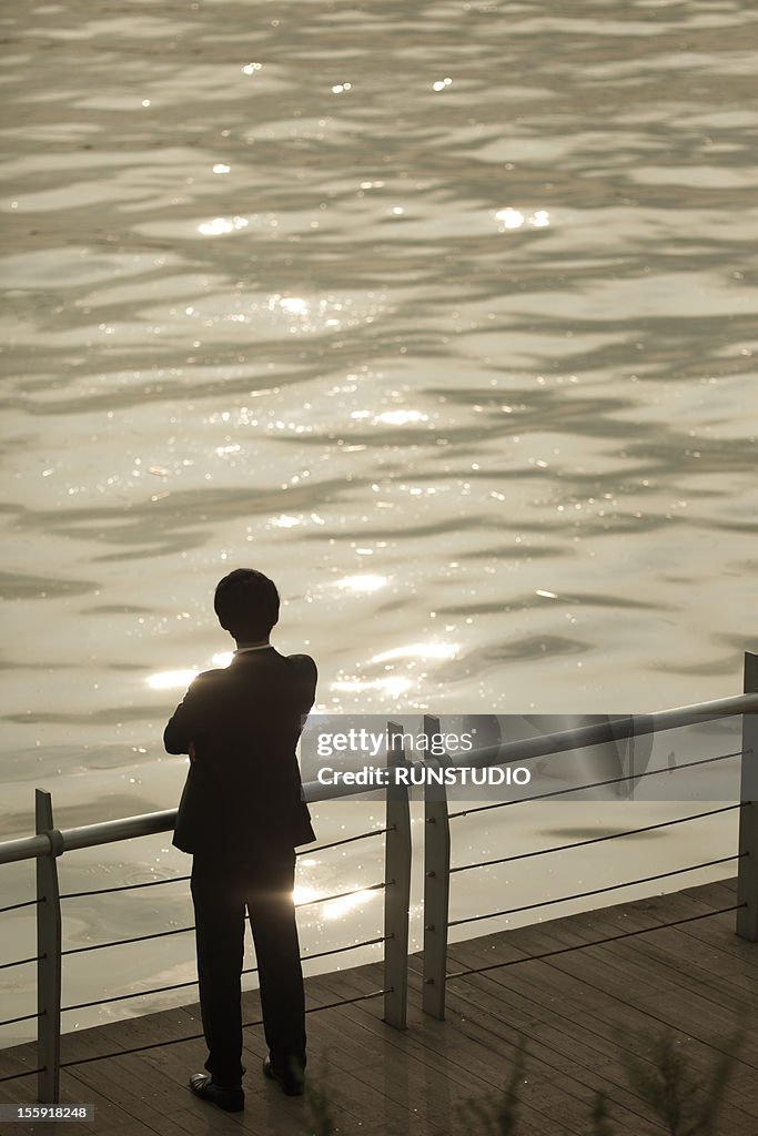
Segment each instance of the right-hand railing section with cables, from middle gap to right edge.
M467 766L502 766L518 761L524 762L535 758L545 757L553 753L561 753L569 750L582 749L589 745L598 745L606 742L618 742L623 738L639 737L643 734L659 733L663 730L677 729L683 726L692 726L703 721L716 720L742 716L742 744L732 753L716 754L698 761L684 762L676 766L676 770L692 768L694 766L708 765L710 762L724 761L728 758L740 757L740 802L727 804L718 809L709 809L705 812L693 813L688 817L678 817L673 820L663 821L657 825L647 825L641 828L628 829L623 833L614 833L609 836L598 836L590 840L575 841L569 844L556 845L550 849L542 849L534 852L519 853L517 855L500 857L493 860L483 860L476 863L461 864L451 868L451 840L450 821L460 817L472 816L480 812L489 812L493 809L502 809L509 805L524 804L530 801L542 801L547 799L560 797L561 795L576 794L577 791L597 788L623 782L630 782L638 777L652 777L658 774L669 774L669 769L653 769L641 775L630 775L614 777L606 780L592 782L582 786L570 786L550 793L540 793L535 796L522 796L509 801L498 801L457 812L450 812L447 793L443 784L435 784L433 791L427 786L425 795L424 815L424 961L423 961L423 1009L434 1018L444 1018L445 987L450 978L460 978L466 975L478 974L485 970L494 970L499 967L514 966L516 963L530 962L540 958L563 954L567 951L583 950L600 943L614 942L615 938L626 938L630 935L647 934L663 927L680 926L690 922L692 919L682 919L673 924L658 924L644 930L630 932L599 939L597 943L582 943L577 947L564 947L559 951L550 951L541 955L532 955L510 960L502 963L492 963L472 970L456 971L448 974L448 930L450 927L459 927L463 924L480 922L485 919L494 919L517 914L524 911L549 908L553 904L566 903L575 899L588 899L600 894L619 891L636 884L647 884L653 880L672 878L684 872L699 868L710 868L727 862L738 864L738 902L719 911L707 912L705 916L694 918L707 918L708 914L723 914L726 911L735 911L735 932L742 938L750 942L758 941L758 655L745 653L743 691L741 695L728 699L719 699L711 702L702 702L697 705L680 707L674 710L663 710L658 713L631 716L628 718L615 719L608 722L599 722L591 726L582 726L576 729L561 730L548 734L542 737L527 738L525 741L507 742L499 746L497 757L484 754L477 761L476 757L468 754ZM427 738L427 749L431 749L431 738L440 733L440 720L432 716L424 717L424 733ZM432 762L426 762L432 765ZM436 768L440 762L433 763ZM610 840L619 840L625 836L639 833L651 832L652 829L669 827L672 825L685 824L691 820L699 820L703 817L717 813L739 810L740 829L738 851L733 855L719 857L707 860L688 868L676 868L670 871L659 872L655 876L647 876L640 879L624 880L606 887L595 887L586 892L577 892L572 895L560 895L555 899L540 900L522 907L507 908L499 911L490 911L483 914L468 916L459 919L450 919L450 878L458 872L470 871L477 868L491 867L494 864L514 862L533 857L549 855L553 852L564 852L569 849L582 847L590 844L599 844Z

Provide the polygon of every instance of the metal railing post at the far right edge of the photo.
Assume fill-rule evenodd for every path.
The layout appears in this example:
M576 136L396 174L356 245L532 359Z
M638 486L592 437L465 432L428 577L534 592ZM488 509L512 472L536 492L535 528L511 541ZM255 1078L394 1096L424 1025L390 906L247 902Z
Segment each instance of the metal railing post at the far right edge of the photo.
M758 692L758 654L744 654L744 693ZM742 715L742 772L740 778L740 846L736 934L758 941L758 715Z

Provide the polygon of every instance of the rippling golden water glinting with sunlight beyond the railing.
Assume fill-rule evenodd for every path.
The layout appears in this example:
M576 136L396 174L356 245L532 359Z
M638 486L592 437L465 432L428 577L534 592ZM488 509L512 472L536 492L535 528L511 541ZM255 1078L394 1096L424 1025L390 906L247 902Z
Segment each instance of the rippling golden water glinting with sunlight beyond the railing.
M741 688L751 3L15 0L0 22L3 835L38 784L61 827L175 804L160 733L228 646L210 596L240 563L280 584L276 643L313 651L330 711ZM325 838L373 815L344 808ZM666 863L700 846L684 828ZM166 846L78 853L69 886L185 869ZM344 884L316 860L308 894ZM163 925L158 891L113 937ZM375 934L365 908L342 932ZM155 985L192 977L181 950L150 954Z

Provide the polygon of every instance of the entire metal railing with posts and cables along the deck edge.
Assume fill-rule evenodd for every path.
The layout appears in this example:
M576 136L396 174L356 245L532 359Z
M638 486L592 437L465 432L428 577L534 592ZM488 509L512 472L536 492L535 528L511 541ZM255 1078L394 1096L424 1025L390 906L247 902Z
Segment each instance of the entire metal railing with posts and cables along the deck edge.
M730 861L738 863L738 902L731 908L722 911L736 911L736 933L745 939L752 942L758 939L758 766L756 757L758 752L758 655L745 654L744 662L744 694L735 698L720 699L717 701L699 703L691 707L682 707L674 710L664 710L658 713L631 716L627 719L615 719L592 726L583 726L570 730L548 734L541 737L527 738L517 742L508 742L499 747L497 758L493 759L490 751L472 752L467 755L466 765L475 768L485 766L510 765L513 762L524 762L539 757L552 753L561 753L570 750L583 749L589 745L618 742L622 738L632 738L642 734L658 733L667 729L675 729L682 726L693 725L719 718L742 716L742 745L733 754L719 754L707 758L703 761L690 762L689 765L705 765L708 761L724 760L728 757L742 757L741 763L741 792L739 804L727 804L719 809L711 809L689 817L664 821L657 825L648 825L643 828L631 829L626 833L613 834L613 836L599 836L591 840L577 841L570 844L558 845L552 849L520 853L514 857L500 857L493 860L481 861L478 863L463 864L451 868L450 866L450 821L459 817L484 812L491 809L501 809L513 804L522 804L527 801L544 800L545 797L559 797L564 793L576 793L577 786L569 790L558 790L552 793L540 794L534 797L520 797L510 801L500 801L463 809L458 812L450 812L447 795L442 785L435 785L433 791L425 792L424 810L424 952L423 952L423 1009L435 1018L444 1017L445 986L448 979L460 978L465 975L480 972L483 970L497 969L501 966L513 966L516 963L534 961L535 959L549 958L555 954L563 954L567 951L580 950L599 945L600 943L614 942L616 938L626 938L631 935L647 934L667 926L678 926L680 924L692 921L682 919L674 924L658 924L655 927L638 932L628 932L610 938L599 939L597 943L583 943L575 947L561 947L557 951L549 951L544 954L519 958L505 963L493 963L486 967L475 968L475 970L447 972L448 957L448 929L452 926L460 926L466 922L475 922L484 919L492 919L500 916L509 916L518 911L533 910L549 907L551 904L564 903L570 899L594 896L620 889L632 884L648 883L653 879L673 877L680 872L691 871L699 867L713 867ZM424 732L428 740L439 733L439 719L432 716L424 717ZM402 726L398 722L388 722L388 763L408 766L406 753L402 747ZM427 744L426 752L432 752ZM440 768L441 762L428 759L417 762L415 767L427 769ZM678 769L684 768L678 766ZM655 776L660 770L651 770L642 776ZM665 770L668 772L668 770ZM630 778L613 778L603 782L594 782L582 788L594 788L600 785L609 785L618 782L630 780ZM357 786L324 786L318 782L310 782L303 786L306 800L310 803L317 801L334 800L335 797L353 796L366 793L365 788ZM384 927L383 934L363 943L351 943L348 946L335 947L330 951L305 954L303 961L315 958L325 958L330 954L338 954L344 951L356 950L361 946L384 944L384 974L382 988L370 994L359 997L344 999L341 1002L317 1006L308 1012L316 1012L330 1009L333 1005L347 1005L356 1001L367 999L384 999L384 1020L398 1028L406 1026L406 1006L408 989L408 938L409 938L409 905L410 905L410 870L411 870L411 835L410 835L410 811L409 794L407 785L391 782L385 792L385 825L378 829L359 833L348 836L330 844L317 845L309 849L303 854L313 854L314 851L325 851L327 849L351 844L372 836L384 835L384 879L370 885L372 889L384 893ZM736 854L722 857L707 861L702 864L691 866L685 869L675 869L661 872L657 876L643 879L627 880L614 884L608 887L594 888L590 892L575 893L572 896L558 896L556 899L543 900L538 903L527 904L522 908L509 908L503 911L486 912L466 918L450 920L450 879L458 872L474 870L481 867L506 863L517 859L527 859L538 855L547 855L551 852L566 851L584 844L595 844L605 841L619 838L623 836L650 832L656 828L669 825L684 824L703 817L714 816L730 810L740 810L740 835ZM22 908L35 907L38 946L36 955L30 959L18 959L11 962L0 963L0 969L23 966L36 962L38 977L38 1012L26 1014L22 1018L9 1019L0 1025L10 1025L16 1021L38 1021L38 1064L39 1068L24 1070L2 1080L15 1079L19 1076L38 1075L39 1100L47 1103L55 1103L59 1099L60 1069L69 1066L82 1064L85 1061L102 1060L111 1054L101 1054L94 1058L86 1058L80 1061L60 1060L60 1016L69 1010L84 1009L91 1005L105 1004L106 1002L122 1001L131 997L144 996L147 994L163 993L165 991L178 989L195 983L177 983L172 986L158 987L151 991L136 991L132 994L116 995L110 999L95 1000L93 1002L78 1003L76 1005L61 1006L61 960L64 955L76 954L84 951L107 949L124 943L140 942L148 938L157 938L164 935L184 934L191 932L192 927L173 928L166 932L158 932L151 935L136 936L130 939L118 939L110 943L92 944L85 947L74 947L63 950L61 944L61 900L72 900L84 895L105 894L109 892L130 891L136 887L152 887L168 883L177 883L189 877L174 877L173 879L149 880L144 884L128 884L116 887L98 888L86 892L70 892L60 894L58 887L57 861L65 852L75 849L94 847L113 841L128 840L131 837L148 836L173 829L176 819L176 810L170 809L163 812L145 813L139 817L127 817L118 820L105 821L102 824L86 825L80 828L59 830L55 827L52 815L52 802L49 793L42 790L36 791L36 833L34 836L16 841L0 843L0 863L13 863L22 860L34 859L36 861L36 899L14 903L0 909L0 914ZM358 892L367 891L366 887L357 888ZM327 900L341 899L345 895L355 894L339 893L334 896L323 896L317 900L306 901L299 904L305 907L310 903L325 902ZM707 914L722 912L708 912L706 916L693 918L706 918ZM256 968L251 968L255 970ZM249 974L250 970L243 971ZM253 1022L245 1022L245 1026ZM119 1054L138 1052L143 1049L155 1049L160 1045L176 1044L184 1041L194 1041L202 1037L201 1034L189 1037L172 1038L166 1042L152 1043L151 1045L139 1046L135 1050L120 1050Z

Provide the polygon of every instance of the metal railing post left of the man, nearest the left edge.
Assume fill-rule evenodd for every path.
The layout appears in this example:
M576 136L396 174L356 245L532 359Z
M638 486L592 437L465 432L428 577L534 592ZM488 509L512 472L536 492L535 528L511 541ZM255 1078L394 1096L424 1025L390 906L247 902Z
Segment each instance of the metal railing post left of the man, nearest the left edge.
M36 1095L41 1104L60 1101L60 894L57 857L64 850L52 826L52 797L35 793L38 836L47 836L50 851L36 858Z

